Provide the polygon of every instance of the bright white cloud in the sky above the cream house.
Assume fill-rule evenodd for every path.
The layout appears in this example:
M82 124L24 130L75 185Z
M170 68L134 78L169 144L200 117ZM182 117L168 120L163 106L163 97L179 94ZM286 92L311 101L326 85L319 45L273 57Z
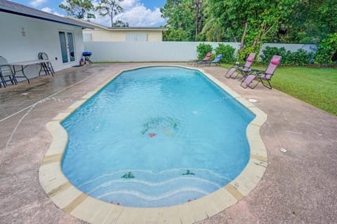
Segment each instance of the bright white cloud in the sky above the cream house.
M98 6L98 1L93 1L94 6ZM114 16L114 21L121 20L128 22L130 27L155 27L163 24L165 20L161 18L159 8L150 10L146 8L140 0L124 0L119 3L124 9L124 13L119 13ZM95 12L95 19L91 22L111 26L111 19L109 16L102 17L98 12Z

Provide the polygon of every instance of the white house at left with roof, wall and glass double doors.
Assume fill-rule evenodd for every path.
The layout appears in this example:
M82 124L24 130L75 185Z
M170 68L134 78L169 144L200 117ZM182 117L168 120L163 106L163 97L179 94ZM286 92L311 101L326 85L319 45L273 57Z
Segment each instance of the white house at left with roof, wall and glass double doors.
M0 0L0 55L8 62L38 59L46 52L55 71L79 64L84 51L82 29L91 25L69 20L12 1ZM39 65L27 67L37 76Z

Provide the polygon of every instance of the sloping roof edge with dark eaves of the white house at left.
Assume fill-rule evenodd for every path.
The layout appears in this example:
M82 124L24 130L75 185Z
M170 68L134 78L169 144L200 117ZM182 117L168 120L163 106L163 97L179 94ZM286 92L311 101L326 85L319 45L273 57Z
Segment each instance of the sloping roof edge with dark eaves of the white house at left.
M89 28L89 29L94 28L93 26L88 25L84 22L77 21L77 20L70 20L69 18L63 18L58 15L53 15L51 13L46 13L41 10L29 8L19 3L15 3L13 1L0 0L0 12L11 13L15 15L22 15L25 17L35 18L39 20L58 22L58 23L66 24L66 25L73 25L75 27L82 27L82 28Z

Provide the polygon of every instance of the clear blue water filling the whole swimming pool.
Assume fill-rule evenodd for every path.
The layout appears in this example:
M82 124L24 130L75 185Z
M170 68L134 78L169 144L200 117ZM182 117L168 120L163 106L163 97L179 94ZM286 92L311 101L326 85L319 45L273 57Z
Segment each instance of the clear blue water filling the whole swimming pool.
M199 71L124 71L62 122L62 171L80 190L130 207L167 207L235 179L254 115Z

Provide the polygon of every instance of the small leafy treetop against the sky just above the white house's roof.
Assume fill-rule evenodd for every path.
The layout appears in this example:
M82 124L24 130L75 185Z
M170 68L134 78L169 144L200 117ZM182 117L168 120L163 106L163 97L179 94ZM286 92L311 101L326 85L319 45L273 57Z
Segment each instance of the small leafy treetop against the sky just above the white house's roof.
M90 13L94 9L90 0L67 0L65 5L61 3L58 7L66 10L67 15L78 19L95 18L95 15Z

